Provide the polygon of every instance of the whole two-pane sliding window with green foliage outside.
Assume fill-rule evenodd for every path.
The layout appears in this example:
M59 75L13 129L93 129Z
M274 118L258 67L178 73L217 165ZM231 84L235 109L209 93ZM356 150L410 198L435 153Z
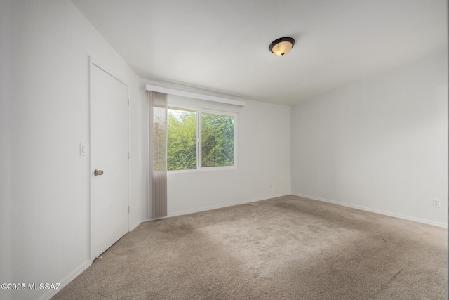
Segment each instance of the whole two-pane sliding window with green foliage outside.
M236 114L168 108L167 169L235 167Z

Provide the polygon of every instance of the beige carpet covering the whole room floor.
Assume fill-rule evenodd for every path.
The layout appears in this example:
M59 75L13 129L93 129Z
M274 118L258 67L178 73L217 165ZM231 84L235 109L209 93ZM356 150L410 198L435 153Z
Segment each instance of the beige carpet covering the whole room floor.
M446 230L288 196L142 223L53 299L445 299Z

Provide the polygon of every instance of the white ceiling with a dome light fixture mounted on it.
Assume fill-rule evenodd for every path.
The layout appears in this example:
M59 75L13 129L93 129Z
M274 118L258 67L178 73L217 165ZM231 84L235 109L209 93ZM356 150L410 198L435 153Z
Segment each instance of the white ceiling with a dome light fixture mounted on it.
M282 105L447 46L445 0L72 1L142 79Z

